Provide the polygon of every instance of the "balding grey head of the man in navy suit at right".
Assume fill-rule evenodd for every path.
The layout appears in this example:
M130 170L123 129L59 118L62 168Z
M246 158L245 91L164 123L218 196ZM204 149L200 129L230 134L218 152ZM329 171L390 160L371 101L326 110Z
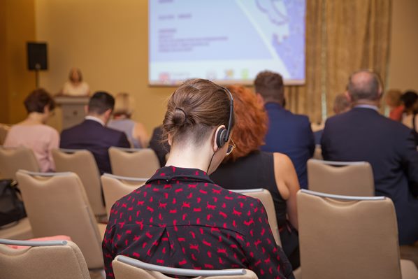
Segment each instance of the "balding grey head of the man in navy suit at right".
M360 74L366 75L363 78L356 78ZM347 91L352 101L377 100L380 97L381 82L377 73L370 70L355 71L349 76Z

